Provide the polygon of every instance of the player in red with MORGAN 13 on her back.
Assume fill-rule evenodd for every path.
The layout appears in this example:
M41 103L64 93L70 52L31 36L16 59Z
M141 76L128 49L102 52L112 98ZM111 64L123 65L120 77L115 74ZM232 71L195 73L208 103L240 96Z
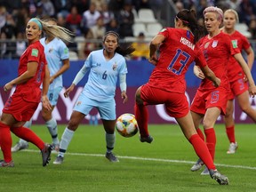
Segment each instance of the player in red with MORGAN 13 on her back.
M203 36L203 31L204 28L197 23L196 12L182 10L175 18L175 28L164 28L152 39L149 62L156 68L148 83L137 90L134 110L140 127L140 141L151 143L153 138L148 133L146 106L164 104L168 115L175 117L185 137L193 145L197 156L204 159L212 179L217 180L220 185L227 185L228 178L216 170L204 140L196 133L185 95L185 74L193 61L202 68L204 75L214 86L220 85L220 79L208 68L203 52L196 45L200 36Z

